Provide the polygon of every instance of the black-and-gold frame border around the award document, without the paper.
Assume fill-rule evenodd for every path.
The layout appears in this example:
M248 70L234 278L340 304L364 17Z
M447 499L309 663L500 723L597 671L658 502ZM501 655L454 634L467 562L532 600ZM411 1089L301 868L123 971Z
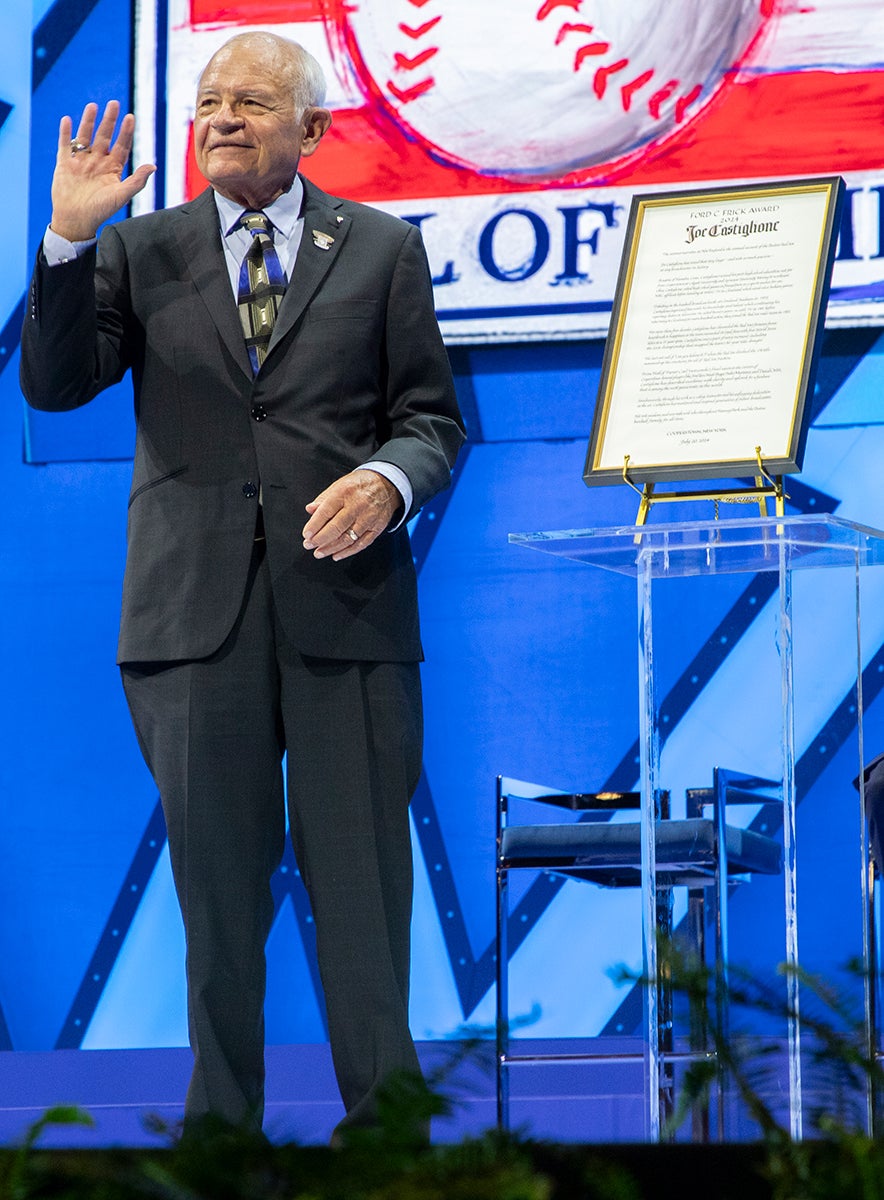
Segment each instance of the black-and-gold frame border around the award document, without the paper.
M620 272L614 295L611 328L605 346L605 356L593 418L593 431L587 451L583 479L588 486L624 481L633 487L636 484L644 484L642 511L647 516L651 503L667 498L676 498L674 493L659 493L654 496L654 485L657 482L679 482L692 479L734 480L752 476L756 480L756 486L750 487L747 494L745 490L726 488L717 492L682 493L682 496L684 498L721 498L722 500L741 502L744 499L754 499L760 491L765 496L775 496L777 510L782 509L782 475L799 472L804 458L810 418L806 397L819 355L819 334L825 319L825 306L829 296L829 282L835 256L843 191L843 180L841 176L834 175L824 179L788 180L633 197L624 251L620 259ZM620 365L624 335L630 319L630 301L636 294L638 251L642 234L647 227L647 214L661 208L672 209L684 206L687 215L687 210L696 209L704 203L721 204L723 202L751 200L760 204L771 199L784 199L788 203L790 197L806 196L808 192L824 193L825 204L817 245L808 247L808 254L814 254L816 269L812 272L812 286L806 298L806 318L804 322L792 322L790 328L783 331L783 336L788 334L792 337L800 336L802 338L799 354L798 383L794 396L790 396L792 412L788 421L789 432L787 444L774 446L757 445L754 443L760 440L760 438L753 438L751 439L753 442L752 445L734 446L733 456L694 462L673 461L664 456L655 461L635 462L626 454L624 455L624 461L617 467L611 464L611 456L608 454L606 466L600 467L600 461L606 458L605 438L612 412L612 396ZM777 335L780 335L780 331L777 331ZM763 504L763 497L760 497L760 502Z

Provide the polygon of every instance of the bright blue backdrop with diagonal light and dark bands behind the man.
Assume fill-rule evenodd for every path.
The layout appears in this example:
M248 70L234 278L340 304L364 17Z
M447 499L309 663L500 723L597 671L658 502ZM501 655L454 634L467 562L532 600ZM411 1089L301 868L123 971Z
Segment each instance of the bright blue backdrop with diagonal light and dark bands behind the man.
M128 94L131 32L121 0L46 0L32 20L7 14L0 42L0 170L7 205L20 214L0 232L0 1049L186 1040L182 935L157 797L114 667L130 391L121 385L82 413L48 416L25 413L17 382L58 118ZM419 1038L492 1020L494 776L578 790L637 779L635 586L507 545L512 530L635 518L627 488L582 482L601 349L452 350L470 440L452 490L413 529L428 730L414 805ZM884 526L883 386L876 330L826 335L805 470L788 486L792 511ZM764 578L732 578L694 588L690 604L678 587L661 600L667 734L680 761L694 756L692 782L706 782L712 748L727 746L724 764L748 769L762 769L769 752L753 673L769 594ZM813 683L798 748L801 953L826 971L859 950L855 752L838 715L846 682L813 670L819 652L819 662L847 664L849 673L855 635L825 620L836 599L823 592L810 602L824 636L800 668ZM884 606L874 593L864 620L871 754L884 745ZM323 1040L309 914L290 858L276 890L269 1039ZM744 889L735 908L734 958L782 958L781 881ZM605 973L638 958L635 895L535 888L516 925L513 1008L540 1006L529 1032L636 1027L635 996ZM560 973L547 985L553 967Z

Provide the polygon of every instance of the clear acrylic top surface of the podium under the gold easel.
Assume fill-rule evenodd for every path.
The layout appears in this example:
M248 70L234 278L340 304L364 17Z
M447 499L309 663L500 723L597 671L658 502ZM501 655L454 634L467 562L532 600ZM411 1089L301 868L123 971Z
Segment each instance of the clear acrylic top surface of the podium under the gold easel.
M884 565L884 532L829 514L511 533L510 542L621 575Z

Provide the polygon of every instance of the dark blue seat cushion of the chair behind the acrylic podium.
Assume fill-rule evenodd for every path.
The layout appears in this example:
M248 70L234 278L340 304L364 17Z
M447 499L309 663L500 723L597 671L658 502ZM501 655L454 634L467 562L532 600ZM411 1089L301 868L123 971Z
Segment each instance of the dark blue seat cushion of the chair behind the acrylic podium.
M711 882L712 821L659 821L656 828L659 883ZM772 838L736 826L726 826L724 836L728 874L776 875L782 870L782 847ZM636 887L642 882L642 829L636 821L510 826L503 830L500 862L505 868L545 868L608 887Z

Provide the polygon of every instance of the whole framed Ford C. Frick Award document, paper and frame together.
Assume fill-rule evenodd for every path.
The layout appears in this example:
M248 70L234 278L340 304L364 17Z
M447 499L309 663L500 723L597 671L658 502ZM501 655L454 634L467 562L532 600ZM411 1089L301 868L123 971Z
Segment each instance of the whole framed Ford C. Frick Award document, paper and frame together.
M840 176L636 196L584 480L801 469Z

